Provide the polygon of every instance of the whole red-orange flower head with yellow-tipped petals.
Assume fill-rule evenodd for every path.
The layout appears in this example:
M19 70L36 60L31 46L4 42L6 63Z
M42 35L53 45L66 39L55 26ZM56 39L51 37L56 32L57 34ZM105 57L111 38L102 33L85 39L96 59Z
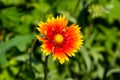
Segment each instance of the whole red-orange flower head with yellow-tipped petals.
M82 45L82 35L80 27L72 24L67 26L68 20L65 16L57 16L57 18L48 18L47 22L40 22L37 30L41 35L37 35L37 39L42 41L42 51L49 55L53 55L54 59L58 59L61 64L68 57L74 56L75 52Z

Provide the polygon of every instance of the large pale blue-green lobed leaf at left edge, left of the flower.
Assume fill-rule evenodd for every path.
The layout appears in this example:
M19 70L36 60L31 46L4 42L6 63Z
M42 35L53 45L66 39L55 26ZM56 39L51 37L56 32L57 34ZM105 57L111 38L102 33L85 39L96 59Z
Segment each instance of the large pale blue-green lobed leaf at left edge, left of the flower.
M5 53L10 48L16 46L20 51L25 51L27 45L33 40L33 34L18 35L9 41L0 43L0 64L4 67L7 63Z

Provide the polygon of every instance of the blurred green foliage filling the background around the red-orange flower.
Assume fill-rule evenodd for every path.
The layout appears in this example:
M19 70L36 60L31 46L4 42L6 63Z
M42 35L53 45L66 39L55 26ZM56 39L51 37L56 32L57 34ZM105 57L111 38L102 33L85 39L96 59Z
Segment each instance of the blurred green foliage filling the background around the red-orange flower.
M0 80L43 80L41 42L31 46L57 15L80 25L84 44L63 65L50 55L48 80L120 80L120 0L0 0Z

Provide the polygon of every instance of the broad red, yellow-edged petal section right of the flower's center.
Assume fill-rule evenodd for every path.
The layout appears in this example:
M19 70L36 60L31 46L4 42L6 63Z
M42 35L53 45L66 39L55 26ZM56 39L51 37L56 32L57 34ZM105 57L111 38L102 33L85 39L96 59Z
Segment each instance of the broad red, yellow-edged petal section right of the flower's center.
M80 35L79 29L79 26L71 25L64 33L66 43L64 44L63 48L68 56L74 56L74 53L82 45L82 35Z

